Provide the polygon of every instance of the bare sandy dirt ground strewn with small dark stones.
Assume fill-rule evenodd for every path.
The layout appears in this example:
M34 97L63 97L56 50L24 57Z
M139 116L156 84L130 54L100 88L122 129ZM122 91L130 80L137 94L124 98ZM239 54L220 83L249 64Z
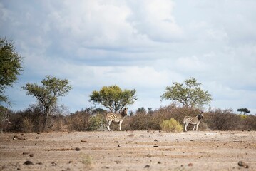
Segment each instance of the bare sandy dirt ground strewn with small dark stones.
M256 132L2 133L0 170L256 170Z

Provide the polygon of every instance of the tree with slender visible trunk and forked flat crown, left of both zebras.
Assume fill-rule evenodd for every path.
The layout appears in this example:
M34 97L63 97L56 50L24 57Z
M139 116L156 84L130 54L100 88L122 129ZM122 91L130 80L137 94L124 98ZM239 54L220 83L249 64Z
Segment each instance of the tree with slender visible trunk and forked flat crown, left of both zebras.
M43 113L42 131L44 131L48 121L48 115L51 114L51 110L56 105L58 97L68 93L71 90L71 85L68 85L68 80L61 80L53 76L46 76L41 83L43 86L39 86L36 83L26 83L26 86L22 86L21 88L27 90L27 95L32 95L38 100Z

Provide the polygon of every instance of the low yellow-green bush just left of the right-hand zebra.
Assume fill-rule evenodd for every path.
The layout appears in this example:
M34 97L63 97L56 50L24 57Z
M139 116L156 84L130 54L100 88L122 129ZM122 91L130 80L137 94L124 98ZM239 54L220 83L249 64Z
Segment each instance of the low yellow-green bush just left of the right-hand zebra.
M183 125L180 125L180 123L173 118L170 120L163 120L160 127L166 132L181 132L183 130Z

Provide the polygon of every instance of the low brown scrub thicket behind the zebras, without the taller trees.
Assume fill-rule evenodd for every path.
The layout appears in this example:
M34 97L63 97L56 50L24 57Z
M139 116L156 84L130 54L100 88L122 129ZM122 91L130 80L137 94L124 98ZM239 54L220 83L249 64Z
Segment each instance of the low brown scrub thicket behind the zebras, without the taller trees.
M48 118L46 131L91 131L106 130L106 110L85 108L76 113L66 113L63 106L56 107ZM31 105L24 111L8 110L11 125L4 130L22 133L39 132L43 127L43 113L39 106ZM59 113L58 113L59 112ZM185 115L197 115L198 109L168 105L157 110L137 110L123 121L122 130L165 130L180 132ZM255 115L237 115L232 110L210 110L204 113L198 130L256 130ZM168 126L169 125L169 126ZM174 125L174 128L170 127ZM111 124L111 130L117 130L118 124ZM192 130L192 127L188 127Z

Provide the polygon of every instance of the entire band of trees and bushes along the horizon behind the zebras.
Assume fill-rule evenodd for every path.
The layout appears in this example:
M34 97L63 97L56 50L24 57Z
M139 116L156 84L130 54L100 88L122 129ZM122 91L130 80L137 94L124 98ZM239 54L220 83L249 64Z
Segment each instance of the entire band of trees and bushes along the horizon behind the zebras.
M11 102L4 92L11 86L23 70L22 58L15 52L12 41L0 38L0 114L1 128L6 131L22 133L43 131L91 131L106 130L105 115L107 111L117 113L127 105L132 105L136 100L136 90L122 90L118 86L103 86L101 90L93 90L90 102L102 105L102 108L85 108L75 113L69 113L64 105L58 104L58 98L66 95L71 90L67 79L55 76L46 76L37 83L26 83L21 89L27 95L36 98L37 103L29 105L26 110L12 111L4 107L3 103ZM200 113L204 105L210 105L213 100L207 90L200 88L201 83L195 78L189 78L184 83L173 83L167 86L160 100L170 100L171 105L152 108L138 108L130 111L123 121L122 130L165 130L167 132L182 131L185 115L195 116ZM209 110L204 113L204 118L199 125L199 130L256 130L256 116L247 108L240 108L241 114L237 115L232 110ZM243 115L242 115L243 113ZM4 122L8 117L11 124ZM118 124L111 125L112 130L117 130ZM116 128L115 128L116 127ZM190 130L191 128L188 128Z

